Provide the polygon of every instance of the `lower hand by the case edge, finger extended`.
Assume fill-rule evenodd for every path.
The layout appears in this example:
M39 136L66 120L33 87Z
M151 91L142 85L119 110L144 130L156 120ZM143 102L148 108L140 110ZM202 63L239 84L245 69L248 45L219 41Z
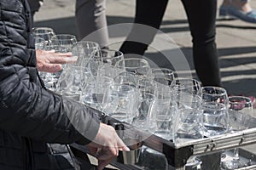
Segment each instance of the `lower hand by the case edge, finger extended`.
M119 139L114 128L104 123L100 124L96 138L86 145L91 154L98 159L98 169L102 170L113 159L119 155L119 150L129 151L130 149Z

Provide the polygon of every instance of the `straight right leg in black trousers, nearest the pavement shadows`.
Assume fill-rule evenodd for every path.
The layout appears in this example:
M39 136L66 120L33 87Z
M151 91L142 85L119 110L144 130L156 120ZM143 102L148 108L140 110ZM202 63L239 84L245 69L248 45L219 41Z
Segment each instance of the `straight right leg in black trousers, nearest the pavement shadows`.
M189 20L195 71L203 86L221 86L215 43L217 0L182 0Z

